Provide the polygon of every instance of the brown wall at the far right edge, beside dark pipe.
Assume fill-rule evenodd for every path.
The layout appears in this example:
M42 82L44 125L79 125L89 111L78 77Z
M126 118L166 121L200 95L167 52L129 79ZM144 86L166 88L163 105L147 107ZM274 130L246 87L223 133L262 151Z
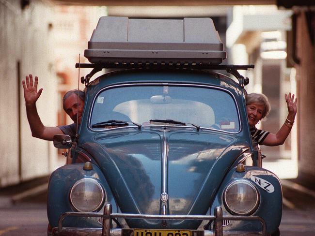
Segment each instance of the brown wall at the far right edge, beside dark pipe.
M315 12L313 12L313 27ZM298 82L299 116L299 176L315 179L315 45L311 43L305 15L301 13L297 23L297 53L300 64L296 65ZM314 37L313 28L313 37Z

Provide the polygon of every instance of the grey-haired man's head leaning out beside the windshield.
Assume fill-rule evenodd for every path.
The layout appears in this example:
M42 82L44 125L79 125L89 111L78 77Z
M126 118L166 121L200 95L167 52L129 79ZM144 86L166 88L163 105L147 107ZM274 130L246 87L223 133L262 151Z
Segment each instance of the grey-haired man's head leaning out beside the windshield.
M79 96L79 103L78 103ZM76 123L81 123L84 106L84 92L78 89L67 91L63 96L63 110Z

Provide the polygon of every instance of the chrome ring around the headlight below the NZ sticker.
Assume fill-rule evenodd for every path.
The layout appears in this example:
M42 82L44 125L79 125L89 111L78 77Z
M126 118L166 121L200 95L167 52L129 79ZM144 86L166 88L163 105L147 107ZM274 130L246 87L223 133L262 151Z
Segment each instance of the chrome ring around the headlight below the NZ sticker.
M251 210L248 210L246 212L240 213L240 212L236 212L232 209L232 207L229 207L229 205L227 204L227 200L226 200L226 192L228 191L228 189L237 183L245 183L247 185L249 185L250 187L252 187L252 189L254 190L255 194L256 194L256 202L254 204L254 207L252 207ZM247 216L247 215L252 215L254 212L256 212L257 208L259 207L259 203L260 203L260 194L259 191L257 190L257 188L255 187L255 185L253 185L249 180L247 179L236 179L233 180L232 182L229 183L229 185L225 188L224 192L223 192L223 203L224 203L224 207L226 208L226 210L231 213L232 215L242 215L242 216Z

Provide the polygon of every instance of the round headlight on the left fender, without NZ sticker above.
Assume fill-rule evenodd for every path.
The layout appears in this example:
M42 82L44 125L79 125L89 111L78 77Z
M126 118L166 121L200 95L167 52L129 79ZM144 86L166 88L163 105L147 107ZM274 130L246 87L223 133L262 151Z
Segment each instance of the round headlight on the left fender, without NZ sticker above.
M102 186L93 178L82 178L77 181L70 191L70 202L78 211L95 211L105 199Z

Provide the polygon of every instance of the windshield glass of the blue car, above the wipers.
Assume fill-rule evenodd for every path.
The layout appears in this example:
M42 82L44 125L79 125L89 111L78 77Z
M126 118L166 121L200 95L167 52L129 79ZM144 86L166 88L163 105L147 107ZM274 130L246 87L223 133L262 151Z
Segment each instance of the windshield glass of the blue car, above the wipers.
M187 126L194 124L226 132L235 133L240 129L231 94L210 87L138 84L105 89L94 100L90 127L107 120L132 121L142 126L183 126L156 121L176 120Z

